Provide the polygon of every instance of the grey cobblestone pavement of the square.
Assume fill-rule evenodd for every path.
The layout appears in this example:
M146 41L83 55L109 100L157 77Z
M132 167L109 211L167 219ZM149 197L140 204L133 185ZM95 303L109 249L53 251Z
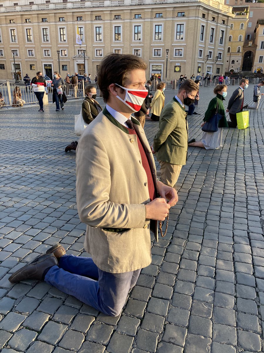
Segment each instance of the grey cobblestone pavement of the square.
M228 87L228 97L234 86ZM200 123L212 88L200 89ZM168 101L175 91L165 91ZM252 103L253 86L245 91ZM74 114L55 106L0 111L0 350L2 353L238 353L263 349L264 99L250 128L224 129L224 147L189 148L168 234L153 241L118 317L102 315L45 282L8 282L50 246L87 256L75 198ZM227 103L226 103L227 104ZM147 121L152 143L158 123Z

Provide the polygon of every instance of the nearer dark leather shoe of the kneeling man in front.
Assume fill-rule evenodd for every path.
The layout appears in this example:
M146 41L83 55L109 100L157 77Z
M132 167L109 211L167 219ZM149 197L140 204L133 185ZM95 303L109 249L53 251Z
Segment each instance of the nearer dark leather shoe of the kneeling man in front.
M46 269L58 265L58 260L53 254L41 256L36 262L27 264L21 269L13 273L8 278L11 283L17 283L23 280L42 280L43 273Z

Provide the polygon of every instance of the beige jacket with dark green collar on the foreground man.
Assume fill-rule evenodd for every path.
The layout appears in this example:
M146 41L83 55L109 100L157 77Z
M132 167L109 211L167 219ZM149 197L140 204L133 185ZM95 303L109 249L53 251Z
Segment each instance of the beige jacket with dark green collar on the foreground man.
M144 130L136 119L132 121L156 181ZM101 270L123 273L151 263L150 220L144 206L150 198L137 136L130 135L106 108L78 143L76 195L80 220L87 224L84 247Z

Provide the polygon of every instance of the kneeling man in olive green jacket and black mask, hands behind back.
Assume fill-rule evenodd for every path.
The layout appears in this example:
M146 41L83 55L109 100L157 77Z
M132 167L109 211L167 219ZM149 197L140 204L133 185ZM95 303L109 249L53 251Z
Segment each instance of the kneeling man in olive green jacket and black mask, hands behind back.
M194 102L198 90L193 80L184 81L159 118L159 130L154 137L152 152L161 166L162 182L171 187L176 184L187 160L188 122L184 105Z

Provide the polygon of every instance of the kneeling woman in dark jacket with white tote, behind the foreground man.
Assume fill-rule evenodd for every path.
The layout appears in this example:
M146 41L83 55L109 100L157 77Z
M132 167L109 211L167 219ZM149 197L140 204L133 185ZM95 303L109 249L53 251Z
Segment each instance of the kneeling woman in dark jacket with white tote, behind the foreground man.
M85 98L82 102L82 117L84 122L89 125L96 116L102 111L102 107L95 100L96 98L96 88L92 85L86 86L84 89ZM78 141L71 142L66 148L65 152L69 152L71 150L76 151L78 145Z

